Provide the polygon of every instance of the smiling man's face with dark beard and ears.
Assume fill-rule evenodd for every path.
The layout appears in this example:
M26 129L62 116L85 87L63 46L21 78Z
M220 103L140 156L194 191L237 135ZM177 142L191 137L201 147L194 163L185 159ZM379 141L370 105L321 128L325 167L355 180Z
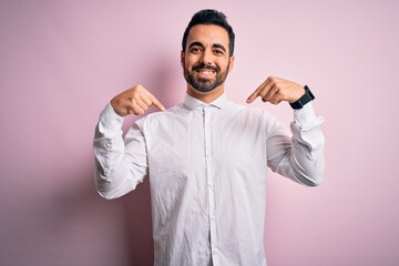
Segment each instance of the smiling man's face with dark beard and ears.
M184 78L191 88L201 93L223 89L234 62L228 52L225 29L213 24L194 25L181 55Z

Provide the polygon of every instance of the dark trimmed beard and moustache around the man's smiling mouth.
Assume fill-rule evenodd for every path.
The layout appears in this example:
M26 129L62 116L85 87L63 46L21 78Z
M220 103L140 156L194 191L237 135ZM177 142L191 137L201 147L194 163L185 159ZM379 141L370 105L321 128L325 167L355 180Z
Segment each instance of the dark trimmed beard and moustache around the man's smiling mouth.
M195 75L195 72L197 69L208 69L208 70L215 71L216 79L215 80L198 79ZM229 69L229 63L227 64L226 71L224 71L224 72L221 71L221 69L218 66L212 66L212 65L206 65L204 63L200 63L200 64L195 64L192 68L192 71L190 72L187 70L187 68L184 65L184 79L196 91L206 93L206 92L213 91L215 88L219 86L221 84L223 84L225 82L227 74L228 74L228 71L227 71L228 69Z

